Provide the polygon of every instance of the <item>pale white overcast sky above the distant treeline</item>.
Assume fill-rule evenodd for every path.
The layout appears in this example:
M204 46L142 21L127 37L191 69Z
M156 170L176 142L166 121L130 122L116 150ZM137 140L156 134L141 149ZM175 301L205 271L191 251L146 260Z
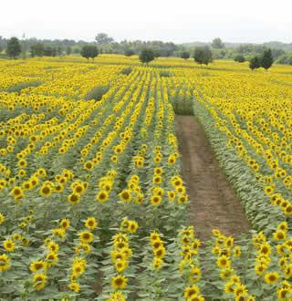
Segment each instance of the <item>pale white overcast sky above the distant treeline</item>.
M292 43L292 0L4 0L0 36Z

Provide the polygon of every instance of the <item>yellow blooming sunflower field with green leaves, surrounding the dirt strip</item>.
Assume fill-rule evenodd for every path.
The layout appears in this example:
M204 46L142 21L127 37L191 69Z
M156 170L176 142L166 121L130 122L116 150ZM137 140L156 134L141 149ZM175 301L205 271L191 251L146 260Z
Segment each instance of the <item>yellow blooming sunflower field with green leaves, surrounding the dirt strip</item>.
M0 68L0 300L292 300L291 67ZM175 114L202 124L250 234L197 237Z

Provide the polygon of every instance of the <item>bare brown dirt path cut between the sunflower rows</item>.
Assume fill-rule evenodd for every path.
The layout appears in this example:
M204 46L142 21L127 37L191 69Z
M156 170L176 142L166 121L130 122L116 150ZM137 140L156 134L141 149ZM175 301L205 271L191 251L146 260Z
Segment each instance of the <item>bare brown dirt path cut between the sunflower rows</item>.
M215 159L201 125L193 116L177 116L176 131L196 233L202 240L208 239L214 228L233 236L247 233L249 223L244 210Z

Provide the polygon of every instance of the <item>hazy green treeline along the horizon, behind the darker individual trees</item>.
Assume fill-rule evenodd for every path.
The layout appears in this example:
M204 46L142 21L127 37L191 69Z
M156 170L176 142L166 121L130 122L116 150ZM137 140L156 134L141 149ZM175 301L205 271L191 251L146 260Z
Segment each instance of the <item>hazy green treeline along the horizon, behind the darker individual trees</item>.
M5 56L7 42L9 39L0 36L0 54ZM214 59L235 59L244 57L250 60L252 57L261 56L267 48L271 49L272 56L280 64L292 65L292 44L280 42L270 42L262 45L258 44L231 44L226 43L216 37L211 43L189 43L174 44L172 42L162 41L141 41L123 40L116 42L112 37L105 33L99 33L95 40L87 42L83 40L72 39L36 39L23 38L19 40L22 55L24 57L35 56L63 56L69 54L80 54L84 46L96 45L99 48L99 54L124 54L126 56L140 55L144 48L151 48L155 57L192 57L196 47L208 46L211 48Z

